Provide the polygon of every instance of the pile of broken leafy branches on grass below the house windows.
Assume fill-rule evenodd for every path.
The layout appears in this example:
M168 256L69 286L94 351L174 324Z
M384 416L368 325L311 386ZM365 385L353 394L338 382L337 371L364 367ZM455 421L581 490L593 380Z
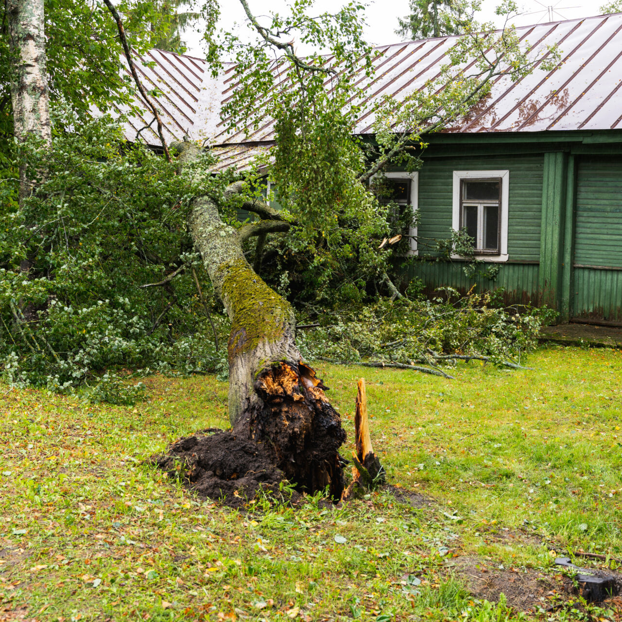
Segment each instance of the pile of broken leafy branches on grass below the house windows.
M309 359L450 379L448 370L458 361L530 369L524 357L536 348L550 310L503 307L491 294L445 293L448 299L381 300L355 311L328 311L308 325L312 330L299 333L299 341Z

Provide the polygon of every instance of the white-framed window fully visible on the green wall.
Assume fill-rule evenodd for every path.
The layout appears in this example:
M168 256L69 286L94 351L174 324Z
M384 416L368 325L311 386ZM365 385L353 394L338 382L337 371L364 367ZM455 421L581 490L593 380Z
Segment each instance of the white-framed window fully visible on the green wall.
M508 261L508 183L508 170L453 172L453 229L466 228L485 261Z

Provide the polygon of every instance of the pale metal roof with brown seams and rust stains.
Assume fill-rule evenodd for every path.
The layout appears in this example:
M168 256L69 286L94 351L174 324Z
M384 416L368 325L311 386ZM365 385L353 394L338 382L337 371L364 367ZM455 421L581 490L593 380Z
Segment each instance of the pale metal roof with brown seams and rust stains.
M539 132L560 130L622 129L622 14L586 17L516 29L522 45L536 54L557 44L561 59L551 72L536 68L513 82L496 78L491 93L476 104L466 119L446 132ZM373 104L390 95L401 100L438 75L446 54L457 37L439 37L377 47L374 72L366 77L361 68L360 86L367 99L356 132L373 132ZM167 139L191 139L218 146L222 162L243 167L274 141L272 120L262 116L258 103L258 129L242 128L228 133L220 119L221 103L235 87L233 66L211 76L200 58L152 50L139 60L152 62L137 68L148 88L157 86ZM327 58L330 62L330 57ZM126 132L134 139L152 116L129 119ZM155 124L152 124L155 129ZM157 145L157 134L144 129L141 136Z

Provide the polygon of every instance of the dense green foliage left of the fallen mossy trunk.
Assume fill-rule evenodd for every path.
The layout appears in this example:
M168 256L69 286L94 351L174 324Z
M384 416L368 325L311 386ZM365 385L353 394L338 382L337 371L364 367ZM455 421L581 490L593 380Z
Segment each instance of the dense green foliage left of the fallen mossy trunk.
M52 391L80 388L93 402L131 404L144 385L121 369L226 368L189 269L167 288L139 286L193 265L205 281L186 232L188 201L196 183L219 192L228 178L197 175L209 157L177 175L149 149L129 146L109 119L66 110L58 116L74 131L54 137L52 155L30 144L20 154L44 174L37 192L18 210L5 200L12 188L0 185L4 377ZM29 279L19 269L26 257ZM203 289L211 302L210 286ZM29 308L35 321L16 328L15 316ZM228 332L228 320L217 314L215 320Z

